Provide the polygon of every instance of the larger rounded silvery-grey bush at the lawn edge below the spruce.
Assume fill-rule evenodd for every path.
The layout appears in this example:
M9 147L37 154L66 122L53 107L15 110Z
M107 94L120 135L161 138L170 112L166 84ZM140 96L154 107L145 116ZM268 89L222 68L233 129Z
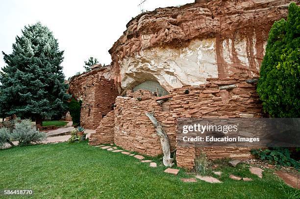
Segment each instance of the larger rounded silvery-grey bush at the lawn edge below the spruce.
M19 145L28 145L30 142L39 142L47 138L46 133L39 132L30 120L23 120L20 123L16 123L16 127L13 130L12 139L19 141Z

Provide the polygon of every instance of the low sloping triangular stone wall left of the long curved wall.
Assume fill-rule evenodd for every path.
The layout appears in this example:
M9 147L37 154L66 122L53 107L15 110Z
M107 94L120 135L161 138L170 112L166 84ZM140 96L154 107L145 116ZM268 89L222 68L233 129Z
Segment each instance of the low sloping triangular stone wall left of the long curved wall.
M92 133L89 138L90 145L108 144L114 141L115 112L110 111L100 121L96 133Z

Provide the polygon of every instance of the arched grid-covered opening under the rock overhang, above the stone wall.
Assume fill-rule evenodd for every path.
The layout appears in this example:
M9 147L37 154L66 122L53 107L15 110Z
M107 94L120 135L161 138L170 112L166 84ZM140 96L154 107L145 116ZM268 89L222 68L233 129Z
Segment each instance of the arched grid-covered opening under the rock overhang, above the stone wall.
M133 88L133 91L135 92L137 90L149 90L152 93L156 93L157 96L159 96L159 97L169 94L169 92L165 88L160 86L160 84L158 82L154 82L154 81L150 81L150 80L146 80L145 82L142 82L142 83L136 85Z

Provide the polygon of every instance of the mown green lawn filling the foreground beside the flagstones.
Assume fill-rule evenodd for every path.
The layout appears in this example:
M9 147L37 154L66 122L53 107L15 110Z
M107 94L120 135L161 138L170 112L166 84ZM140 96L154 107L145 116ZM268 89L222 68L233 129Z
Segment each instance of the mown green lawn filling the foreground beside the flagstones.
M285 192L295 192L282 185L272 171L266 170L259 179L250 174L246 164L233 168L221 163L216 171L223 172L219 177L223 183L185 183L180 178L192 175L183 169L177 176L164 173L166 168L159 157L153 158L158 167L151 168L132 156L92 147L87 142L14 147L0 150L0 160L0 190L32 189L34 195L30 198L36 199L277 199L287 198ZM251 177L253 181L235 181L228 178L229 174Z

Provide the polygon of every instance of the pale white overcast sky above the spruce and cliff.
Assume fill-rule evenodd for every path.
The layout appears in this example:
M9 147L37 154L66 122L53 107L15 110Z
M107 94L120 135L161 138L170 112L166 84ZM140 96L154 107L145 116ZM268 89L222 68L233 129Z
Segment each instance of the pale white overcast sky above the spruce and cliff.
M144 0L142 0L144 1ZM140 10L178 6L194 0L0 0L0 52L12 52L15 37L25 25L41 22L64 50L66 78L84 71L84 61L95 57L111 62L108 50L126 30L126 23ZM0 68L5 66L0 53Z

